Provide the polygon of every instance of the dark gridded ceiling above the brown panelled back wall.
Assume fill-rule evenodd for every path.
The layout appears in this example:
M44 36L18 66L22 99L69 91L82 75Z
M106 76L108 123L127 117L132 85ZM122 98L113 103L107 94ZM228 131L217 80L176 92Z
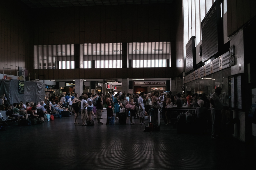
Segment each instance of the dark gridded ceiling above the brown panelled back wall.
M30 8L73 7L95 5L164 4L173 0L21 0Z

